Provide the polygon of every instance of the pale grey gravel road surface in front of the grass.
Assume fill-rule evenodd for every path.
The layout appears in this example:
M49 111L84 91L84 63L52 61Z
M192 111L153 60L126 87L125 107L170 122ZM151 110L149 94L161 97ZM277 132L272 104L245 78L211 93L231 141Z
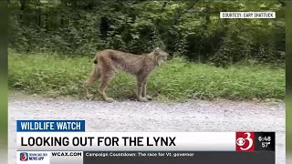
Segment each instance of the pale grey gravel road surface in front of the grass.
M276 131L276 164L285 164L285 105L235 101L159 103L9 98L9 164L16 163L17 119L85 119L87 131Z

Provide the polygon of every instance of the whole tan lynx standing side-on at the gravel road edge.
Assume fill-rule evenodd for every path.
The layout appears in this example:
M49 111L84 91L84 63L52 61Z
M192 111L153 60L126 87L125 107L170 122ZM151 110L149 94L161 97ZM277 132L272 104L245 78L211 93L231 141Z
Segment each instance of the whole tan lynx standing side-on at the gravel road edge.
M113 98L105 93L117 69L130 73L137 78L137 99L147 101L146 85L147 78L155 67L160 67L169 54L157 47L151 53L145 55L134 55L112 49L105 49L96 54L93 60L93 68L88 79L84 82L84 92L87 98L93 97L89 94L89 87L100 78L99 94L107 102L113 102Z

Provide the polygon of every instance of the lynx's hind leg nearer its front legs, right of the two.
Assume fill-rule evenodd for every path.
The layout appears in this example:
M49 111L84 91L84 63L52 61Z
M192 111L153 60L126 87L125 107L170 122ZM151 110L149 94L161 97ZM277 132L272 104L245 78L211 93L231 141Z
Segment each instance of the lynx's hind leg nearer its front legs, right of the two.
M102 73L100 84L99 84L99 94L101 97L107 101L107 102L113 102L114 99L111 97L108 97L105 90L110 84L111 77L113 76L114 71L113 70L108 70Z

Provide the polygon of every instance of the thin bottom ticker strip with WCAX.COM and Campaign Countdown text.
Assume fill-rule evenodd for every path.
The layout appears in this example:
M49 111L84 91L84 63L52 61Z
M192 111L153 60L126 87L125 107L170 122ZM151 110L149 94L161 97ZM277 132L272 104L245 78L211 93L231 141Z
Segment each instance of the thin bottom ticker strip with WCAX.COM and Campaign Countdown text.
M275 152L235 151L17 151L17 164L275 164Z

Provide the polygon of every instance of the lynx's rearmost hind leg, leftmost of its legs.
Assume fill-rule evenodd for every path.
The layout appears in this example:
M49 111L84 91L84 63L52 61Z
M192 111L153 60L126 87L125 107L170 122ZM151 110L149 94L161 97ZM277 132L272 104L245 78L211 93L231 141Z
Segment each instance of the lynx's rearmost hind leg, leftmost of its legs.
M91 73L89 74L88 79L83 83L84 94L86 98L92 98L93 95L89 93L89 87L93 85L93 83L99 79L100 70L98 67L93 67Z

